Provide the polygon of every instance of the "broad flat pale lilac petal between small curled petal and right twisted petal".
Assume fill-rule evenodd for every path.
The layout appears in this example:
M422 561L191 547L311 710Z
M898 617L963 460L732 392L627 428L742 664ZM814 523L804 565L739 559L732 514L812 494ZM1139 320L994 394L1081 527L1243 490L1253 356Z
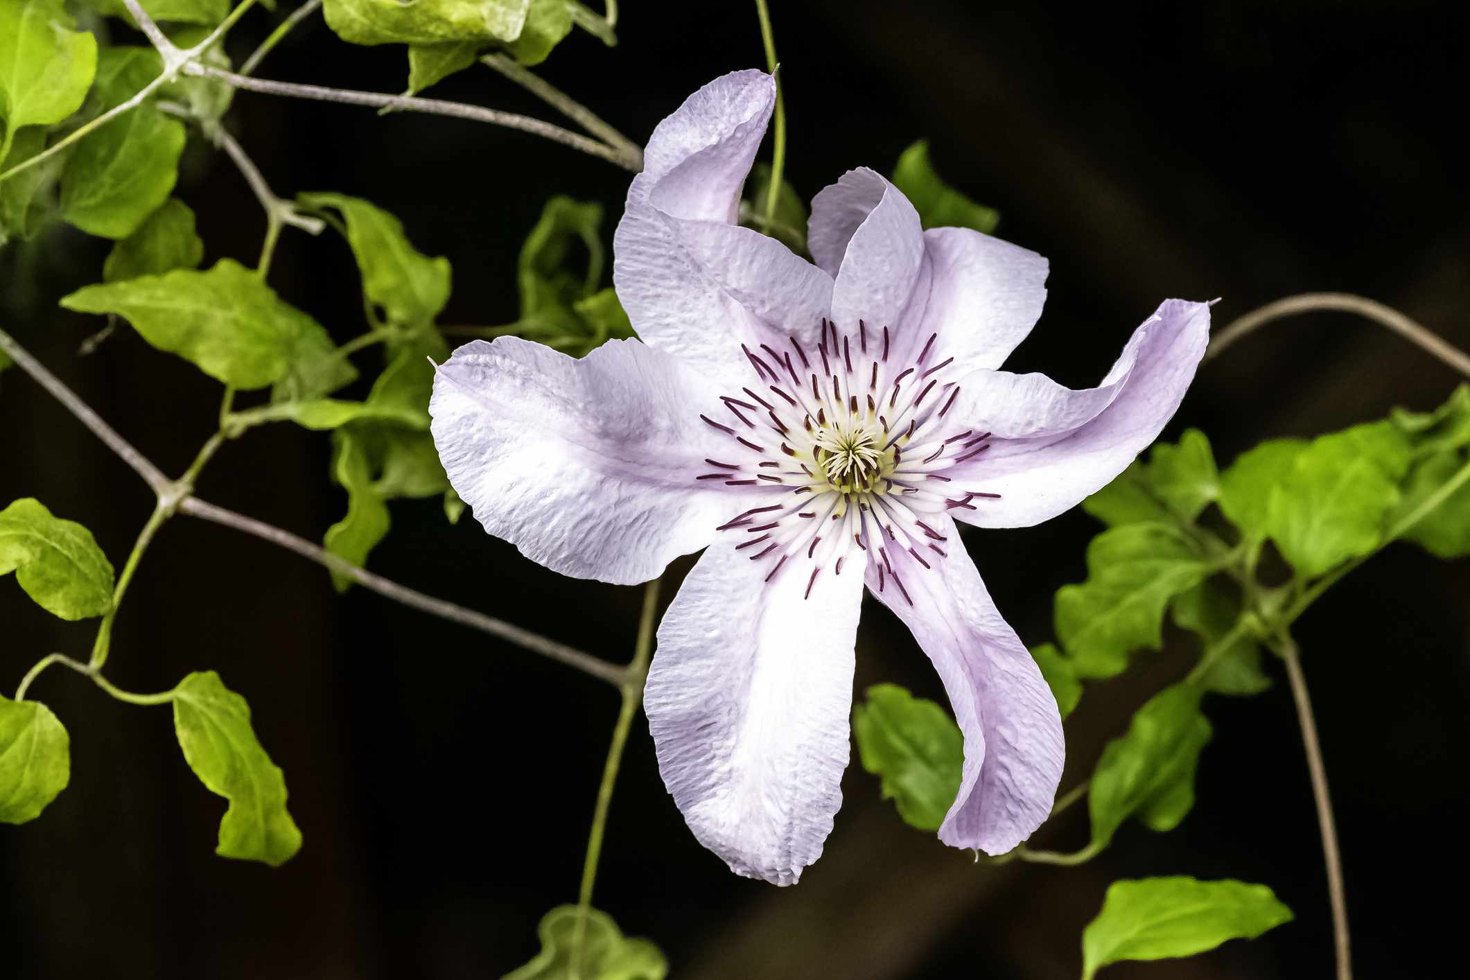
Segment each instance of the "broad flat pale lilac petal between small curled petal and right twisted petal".
M935 360L1000 367L1041 317L1047 260L969 228L931 228L923 242L933 279L919 332L939 335Z

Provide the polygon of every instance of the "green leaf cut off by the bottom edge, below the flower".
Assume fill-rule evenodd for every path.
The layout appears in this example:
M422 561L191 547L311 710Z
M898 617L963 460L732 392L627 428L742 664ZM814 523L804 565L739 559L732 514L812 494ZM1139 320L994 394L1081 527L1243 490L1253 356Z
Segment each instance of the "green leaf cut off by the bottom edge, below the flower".
M578 926L581 955L573 962ZM629 939L607 912L559 905L537 927L541 952L501 980L664 980L669 962L647 939Z

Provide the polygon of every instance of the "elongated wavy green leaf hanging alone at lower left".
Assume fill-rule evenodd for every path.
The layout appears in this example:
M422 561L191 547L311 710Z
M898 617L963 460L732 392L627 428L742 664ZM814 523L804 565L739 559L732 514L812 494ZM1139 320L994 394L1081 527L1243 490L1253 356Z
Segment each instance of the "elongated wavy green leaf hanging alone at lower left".
M188 767L229 801L219 823L219 857L278 867L300 851L301 832L285 808L285 776L260 748L250 705L213 670L193 673L173 689L173 730Z

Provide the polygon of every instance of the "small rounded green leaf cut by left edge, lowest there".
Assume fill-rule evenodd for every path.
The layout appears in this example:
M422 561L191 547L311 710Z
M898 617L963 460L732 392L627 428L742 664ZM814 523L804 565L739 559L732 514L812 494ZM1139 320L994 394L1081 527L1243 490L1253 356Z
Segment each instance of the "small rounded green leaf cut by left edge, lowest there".
M51 710L0 696L0 823L35 820L71 777L71 738Z

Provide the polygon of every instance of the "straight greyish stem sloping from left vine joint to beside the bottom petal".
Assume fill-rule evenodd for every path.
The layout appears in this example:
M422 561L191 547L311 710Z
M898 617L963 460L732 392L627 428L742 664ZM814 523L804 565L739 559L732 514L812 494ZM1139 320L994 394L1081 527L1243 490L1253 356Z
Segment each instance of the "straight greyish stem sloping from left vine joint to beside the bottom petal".
M542 657L556 660L557 663L576 667L578 670L594 677L600 677L610 685L622 686L626 677L626 670L617 667L616 664L609 664L597 657L592 657L591 654L547 639L539 633L532 633L531 630L514 626L513 623L506 623L504 620L485 616L484 613L476 613L475 610L465 608L463 605L456 605L454 602L438 599L432 595L425 595L416 589L398 585L397 582L385 579L381 574L373 574L366 569L360 569L351 561L338 558L325 548L315 545L304 538L298 538L290 530L276 527L275 525L268 525L262 520L256 520L254 517L245 517L244 514L226 510L225 507L203 501L198 497L188 497L181 501L179 511L191 517L198 517L200 520L223 525L225 527L234 527L235 530L253 535L262 541L269 541L270 544L285 548L287 551L294 551L303 558L310 558L318 564L323 564L332 572L347 576L365 589L390 598L394 602L450 620L451 623L459 623L460 626L467 626L479 630L481 633L495 636L497 639L509 641L522 649L529 649L534 654L541 654Z

